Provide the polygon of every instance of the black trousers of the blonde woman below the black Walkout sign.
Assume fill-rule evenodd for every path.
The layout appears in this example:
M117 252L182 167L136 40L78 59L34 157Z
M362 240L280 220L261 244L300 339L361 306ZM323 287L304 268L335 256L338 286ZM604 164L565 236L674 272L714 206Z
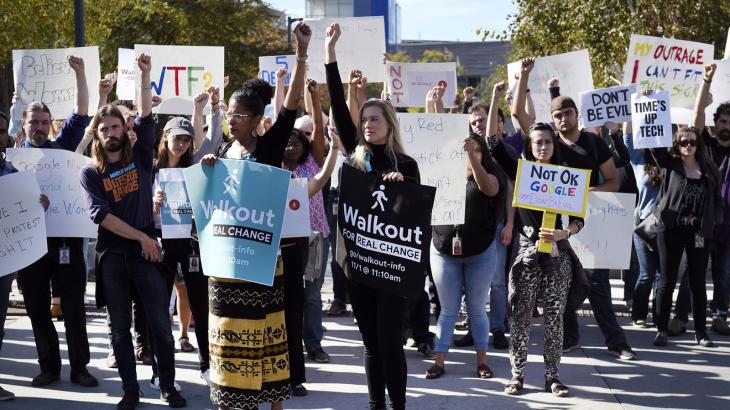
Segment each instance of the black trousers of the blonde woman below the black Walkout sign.
M406 356L401 335L408 301L382 290L347 281L352 311L365 344L365 375L371 409L385 409L385 387L391 406L406 407Z

